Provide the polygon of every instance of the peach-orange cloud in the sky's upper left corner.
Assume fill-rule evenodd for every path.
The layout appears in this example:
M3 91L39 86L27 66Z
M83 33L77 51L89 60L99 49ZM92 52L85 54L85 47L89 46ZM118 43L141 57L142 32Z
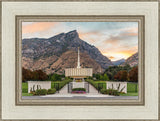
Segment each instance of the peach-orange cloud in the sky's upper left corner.
M51 29L52 27L55 27L58 24L58 22L32 22L29 24L25 24L25 22L22 23L22 34L28 34L28 33L37 33L42 31L47 31Z

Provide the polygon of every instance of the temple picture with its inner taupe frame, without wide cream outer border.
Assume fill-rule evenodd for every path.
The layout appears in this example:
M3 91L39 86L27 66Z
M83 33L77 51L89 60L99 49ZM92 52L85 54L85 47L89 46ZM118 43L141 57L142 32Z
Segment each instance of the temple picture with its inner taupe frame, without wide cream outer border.
M16 23L17 105L144 105L144 16L16 16ZM51 37L39 36L41 25ZM30 37L34 30L39 38Z

